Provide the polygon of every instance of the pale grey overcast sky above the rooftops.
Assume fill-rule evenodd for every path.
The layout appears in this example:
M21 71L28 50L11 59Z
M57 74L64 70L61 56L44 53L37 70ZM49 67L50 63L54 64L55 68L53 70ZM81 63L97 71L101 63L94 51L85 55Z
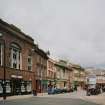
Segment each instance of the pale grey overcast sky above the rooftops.
M105 0L0 0L0 18L52 58L105 67Z

